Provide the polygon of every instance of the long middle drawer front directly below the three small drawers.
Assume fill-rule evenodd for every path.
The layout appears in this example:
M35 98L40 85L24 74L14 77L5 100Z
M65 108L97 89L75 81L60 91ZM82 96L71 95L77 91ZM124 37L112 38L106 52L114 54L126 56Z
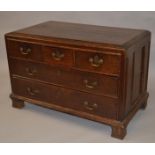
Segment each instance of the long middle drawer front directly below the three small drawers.
M11 74L38 79L52 84L82 90L98 95L118 98L119 79L100 74L65 70L51 65L10 60Z

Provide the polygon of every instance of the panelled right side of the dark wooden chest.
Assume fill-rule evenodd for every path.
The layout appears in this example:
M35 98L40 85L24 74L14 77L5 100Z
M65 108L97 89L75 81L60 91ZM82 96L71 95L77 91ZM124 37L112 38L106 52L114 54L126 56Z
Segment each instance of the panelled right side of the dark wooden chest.
M149 53L150 37L142 38L137 44L128 49L125 115L147 93Z

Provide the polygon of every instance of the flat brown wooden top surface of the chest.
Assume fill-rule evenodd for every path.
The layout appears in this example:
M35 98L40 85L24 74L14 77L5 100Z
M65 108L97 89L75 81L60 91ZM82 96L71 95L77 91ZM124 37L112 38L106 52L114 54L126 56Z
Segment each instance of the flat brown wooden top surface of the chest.
M67 39L125 47L127 44L133 44L139 38L148 35L150 32L146 30L48 21L13 33L16 35L24 34L34 38Z

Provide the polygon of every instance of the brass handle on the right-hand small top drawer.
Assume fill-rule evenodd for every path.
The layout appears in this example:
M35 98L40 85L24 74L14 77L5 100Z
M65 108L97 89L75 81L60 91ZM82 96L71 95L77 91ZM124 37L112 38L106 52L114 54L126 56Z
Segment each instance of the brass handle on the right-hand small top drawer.
M93 67L100 67L103 64L103 59L100 58L98 55L89 58L89 62Z

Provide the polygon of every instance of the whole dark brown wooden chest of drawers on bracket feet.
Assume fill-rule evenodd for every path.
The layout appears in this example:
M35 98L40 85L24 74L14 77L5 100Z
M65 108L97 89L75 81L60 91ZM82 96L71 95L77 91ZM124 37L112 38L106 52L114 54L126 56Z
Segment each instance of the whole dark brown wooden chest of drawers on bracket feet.
M5 39L13 107L27 101L98 121L121 139L146 107L149 31L50 21Z

